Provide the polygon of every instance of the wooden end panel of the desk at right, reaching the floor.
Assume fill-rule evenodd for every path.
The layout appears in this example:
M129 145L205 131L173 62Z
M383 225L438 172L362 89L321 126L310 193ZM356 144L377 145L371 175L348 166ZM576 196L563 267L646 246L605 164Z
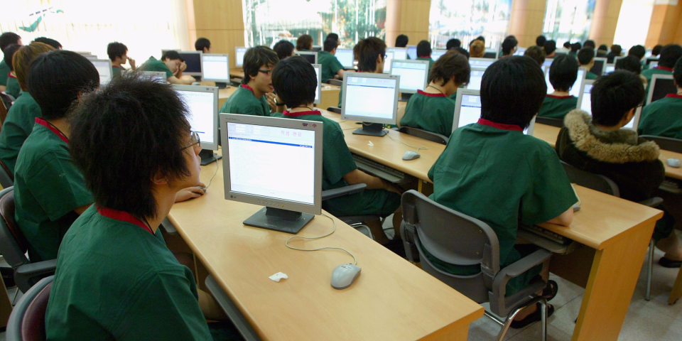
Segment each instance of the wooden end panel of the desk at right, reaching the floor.
M633 228L607 249L597 250L573 341L618 339L653 231L654 222Z

